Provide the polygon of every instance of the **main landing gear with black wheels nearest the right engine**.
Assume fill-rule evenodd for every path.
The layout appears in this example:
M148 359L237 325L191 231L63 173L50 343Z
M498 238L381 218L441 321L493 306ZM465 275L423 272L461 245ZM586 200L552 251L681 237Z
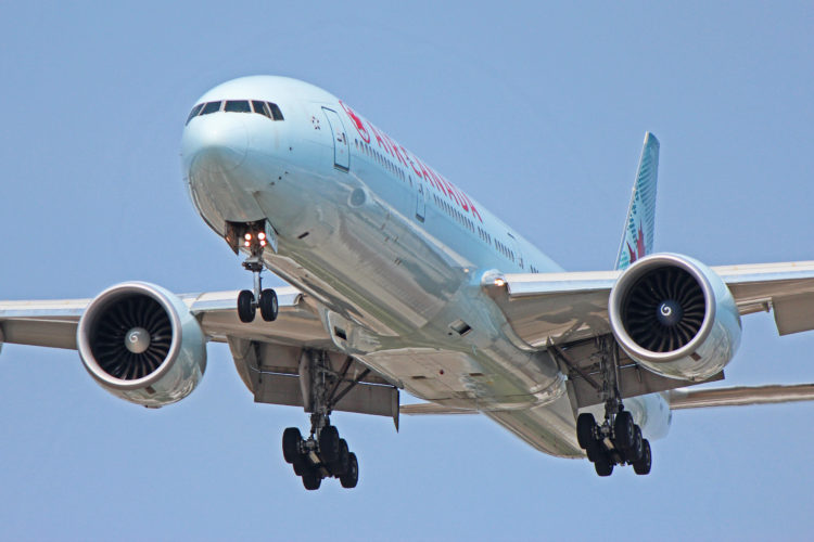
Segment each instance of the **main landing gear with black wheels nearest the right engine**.
M618 386L619 348L615 343L600 344L605 422L599 425L593 414L576 418L576 440L599 476L610 476L614 465L633 465L637 475L650 473L650 442L641 437L641 428L624 410Z

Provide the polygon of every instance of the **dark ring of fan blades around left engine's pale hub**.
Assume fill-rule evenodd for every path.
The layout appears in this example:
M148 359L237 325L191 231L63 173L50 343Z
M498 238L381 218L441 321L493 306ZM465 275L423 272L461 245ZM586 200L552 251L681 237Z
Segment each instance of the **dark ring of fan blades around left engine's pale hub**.
M150 335L150 345L141 353L130 351L125 340L135 328ZM162 306L143 295L113 301L99 315L91 337L91 349L99 366L114 378L136 380L161 366L173 343L173 325Z

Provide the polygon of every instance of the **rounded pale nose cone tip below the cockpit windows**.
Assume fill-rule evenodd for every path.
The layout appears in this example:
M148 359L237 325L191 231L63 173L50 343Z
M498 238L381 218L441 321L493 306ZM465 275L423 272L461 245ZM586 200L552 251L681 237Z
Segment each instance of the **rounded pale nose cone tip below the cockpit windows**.
M188 166L211 173L240 167L247 147L249 133L243 119L229 113L193 118L181 142Z

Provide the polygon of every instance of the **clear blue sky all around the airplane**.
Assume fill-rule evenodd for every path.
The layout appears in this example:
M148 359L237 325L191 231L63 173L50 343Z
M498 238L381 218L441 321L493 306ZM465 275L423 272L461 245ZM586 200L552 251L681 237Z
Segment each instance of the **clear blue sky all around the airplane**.
M26 4L26 5L24 5ZM570 270L612 266L646 130L656 246L709 264L814 259L811 2L15 2L0 8L0 298L175 292L250 276L179 164L199 95L316 83ZM812 382L814 334L745 319L727 384ZM147 411L75 352L0 354L0 538L802 539L814 405L678 412L653 472L598 479L474 416L336 415L354 491L282 462L293 408L256 405L226 348Z

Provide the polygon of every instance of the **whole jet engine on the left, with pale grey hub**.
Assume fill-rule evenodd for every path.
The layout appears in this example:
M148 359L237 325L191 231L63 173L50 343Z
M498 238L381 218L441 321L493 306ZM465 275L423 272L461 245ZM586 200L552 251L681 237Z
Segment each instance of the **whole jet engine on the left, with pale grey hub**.
M143 282L112 286L77 330L85 369L107 391L150 408L180 401L206 370L206 339L187 306Z

